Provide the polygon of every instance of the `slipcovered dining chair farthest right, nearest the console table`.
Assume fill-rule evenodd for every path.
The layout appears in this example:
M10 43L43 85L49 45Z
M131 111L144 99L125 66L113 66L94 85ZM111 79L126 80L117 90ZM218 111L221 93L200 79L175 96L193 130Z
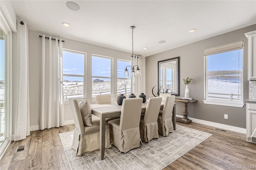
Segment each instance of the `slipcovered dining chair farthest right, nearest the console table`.
M172 110L174 106L175 96L167 96L164 102L164 109L158 115L158 133L163 136L168 136L172 132Z

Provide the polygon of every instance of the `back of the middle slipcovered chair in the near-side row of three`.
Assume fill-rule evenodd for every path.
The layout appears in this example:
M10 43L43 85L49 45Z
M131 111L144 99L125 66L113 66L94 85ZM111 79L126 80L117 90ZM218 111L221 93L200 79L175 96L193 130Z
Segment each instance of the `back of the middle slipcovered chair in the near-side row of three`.
M144 125L157 122L159 110L162 103L162 97L150 97L144 116Z

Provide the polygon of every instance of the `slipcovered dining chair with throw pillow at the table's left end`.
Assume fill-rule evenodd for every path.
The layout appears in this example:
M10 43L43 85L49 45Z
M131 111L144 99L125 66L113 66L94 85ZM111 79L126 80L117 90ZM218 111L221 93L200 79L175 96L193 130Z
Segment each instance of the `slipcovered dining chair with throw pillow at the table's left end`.
M76 150L76 155L100 148L100 119L92 115L90 105L85 101L78 105L76 99L68 99L75 122L73 142L71 148ZM81 107L82 106L82 107ZM81 113L82 111L82 113ZM91 119L88 119L90 118ZM109 125L106 123L106 148L110 148Z

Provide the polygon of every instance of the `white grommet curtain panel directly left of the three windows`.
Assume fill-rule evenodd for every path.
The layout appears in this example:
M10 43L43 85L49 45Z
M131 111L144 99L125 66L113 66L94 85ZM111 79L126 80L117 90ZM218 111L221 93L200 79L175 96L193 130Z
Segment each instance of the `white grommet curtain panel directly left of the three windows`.
M58 41L59 40L59 41ZM40 76L40 129L60 127L64 124L62 90L62 39L42 36Z

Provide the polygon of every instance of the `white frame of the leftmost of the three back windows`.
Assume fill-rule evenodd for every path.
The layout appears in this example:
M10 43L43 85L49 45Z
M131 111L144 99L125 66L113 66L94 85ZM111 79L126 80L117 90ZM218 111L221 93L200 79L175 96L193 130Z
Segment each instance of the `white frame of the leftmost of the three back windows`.
M86 52L63 48L63 52L64 51L65 52L69 52L69 53L77 53L77 54L80 54L80 55L84 55L84 75L63 74L63 66L62 66L62 87L63 87L63 77L64 76L68 76L68 77L83 77L83 79L84 79L83 97L72 97L72 98L75 98L75 99L86 99ZM62 63L63 63L63 58L62 58ZM64 102L68 101L69 98L64 98L64 88L62 90L62 93L63 93L62 95L63 95Z

